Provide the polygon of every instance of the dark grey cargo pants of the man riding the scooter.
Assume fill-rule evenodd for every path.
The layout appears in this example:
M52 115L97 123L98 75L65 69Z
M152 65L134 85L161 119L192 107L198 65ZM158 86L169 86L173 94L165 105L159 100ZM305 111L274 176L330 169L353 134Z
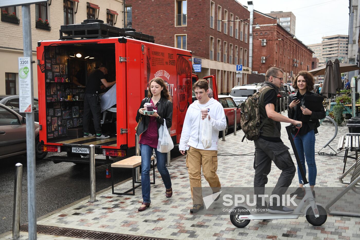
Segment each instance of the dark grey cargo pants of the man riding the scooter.
M275 165L282 170L278 182L271 193L272 195L280 196L280 203L273 198L273 206L282 205L282 195L285 194L294 178L296 168L294 166L288 147L282 142L270 142L258 138L254 140L255 143L255 177L254 177L254 193L256 196L263 195L265 192L265 184L267 183L267 175L271 171L271 160ZM256 207L266 208L261 206L261 198L257 197Z

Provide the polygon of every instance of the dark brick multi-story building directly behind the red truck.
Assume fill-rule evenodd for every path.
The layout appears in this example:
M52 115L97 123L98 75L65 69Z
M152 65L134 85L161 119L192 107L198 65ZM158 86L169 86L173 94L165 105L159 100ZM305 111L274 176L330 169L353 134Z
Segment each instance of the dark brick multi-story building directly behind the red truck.
M153 35L155 43L191 50L194 63L201 62L199 77L216 75L219 93L247 82L250 13L237 1L127 0L125 8L126 26ZM244 66L242 78L236 64Z

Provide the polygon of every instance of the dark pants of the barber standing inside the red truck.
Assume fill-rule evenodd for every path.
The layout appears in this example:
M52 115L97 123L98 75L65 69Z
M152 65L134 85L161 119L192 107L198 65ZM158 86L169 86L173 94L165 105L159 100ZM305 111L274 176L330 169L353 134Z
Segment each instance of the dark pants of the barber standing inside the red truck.
M102 133L100 126L101 112L98 98L94 94L86 93L84 96L84 115L82 116L82 132L84 133L89 133L91 115L93 115L94 119L95 132Z

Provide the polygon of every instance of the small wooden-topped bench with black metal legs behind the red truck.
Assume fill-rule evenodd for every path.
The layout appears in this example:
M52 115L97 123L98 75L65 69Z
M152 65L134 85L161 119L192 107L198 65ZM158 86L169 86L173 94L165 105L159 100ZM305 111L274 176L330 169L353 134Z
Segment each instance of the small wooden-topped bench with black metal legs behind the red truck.
M154 161L155 157L152 156L151 160L150 160L150 164L151 161ZM154 164L153 164L154 165ZM111 164L111 185L112 185L112 193L113 194L117 194L117 195L135 195L135 188L138 188L141 186L141 182L137 182L135 180L135 169L139 168L141 166L141 156L132 156L132 157L128 157L127 159L118 161L116 163L112 163ZM132 169L132 188L130 188L129 190L125 191L125 192L114 192L114 168L120 168L120 169ZM150 182L151 184L155 184L155 167L153 167L153 178L154 178L154 182ZM135 183L140 183L139 185L135 186ZM130 191L132 191L132 193L129 193Z

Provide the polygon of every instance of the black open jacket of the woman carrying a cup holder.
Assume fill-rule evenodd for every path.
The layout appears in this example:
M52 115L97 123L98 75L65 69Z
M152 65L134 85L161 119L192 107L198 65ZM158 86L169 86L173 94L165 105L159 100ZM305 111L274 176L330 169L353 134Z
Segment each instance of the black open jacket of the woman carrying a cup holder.
M145 102L150 102L151 98L144 98L143 101L140 103L140 108L144 108ZM166 127L170 128L172 124L172 102L165 99L160 98L160 100L156 103L157 106L157 114L160 116L159 119L157 119L157 125L158 129L160 128L160 125L164 125L164 120L166 121ZM138 126L138 130L136 130L136 134L140 135L141 133L145 132L148 129L150 117L147 115L141 115L139 113L136 114L136 122L139 123L140 117L143 117L143 120L141 120L141 123Z

